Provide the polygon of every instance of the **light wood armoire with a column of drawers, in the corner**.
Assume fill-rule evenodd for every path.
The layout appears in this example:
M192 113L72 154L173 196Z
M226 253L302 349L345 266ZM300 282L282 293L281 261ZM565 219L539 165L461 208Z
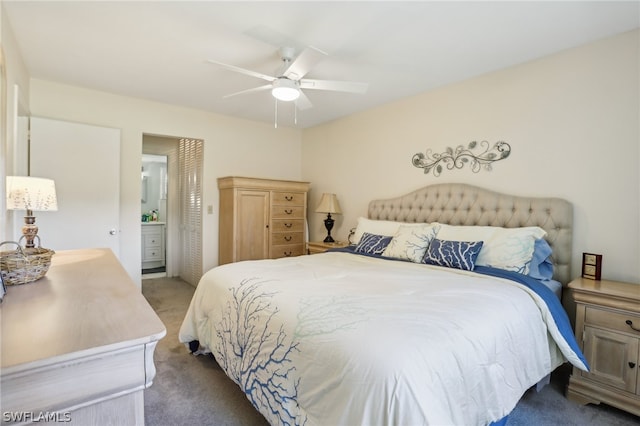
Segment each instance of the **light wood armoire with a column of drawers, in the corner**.
M218 179L218 263L305 254L308 182Z

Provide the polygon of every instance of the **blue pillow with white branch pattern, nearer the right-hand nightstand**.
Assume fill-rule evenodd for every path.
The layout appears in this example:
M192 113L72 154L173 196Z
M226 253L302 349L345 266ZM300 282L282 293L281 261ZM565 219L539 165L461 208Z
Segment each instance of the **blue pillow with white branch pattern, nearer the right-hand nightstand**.
M482 241L447 241L435 238L429 244L423 263L473 271L482 244Z

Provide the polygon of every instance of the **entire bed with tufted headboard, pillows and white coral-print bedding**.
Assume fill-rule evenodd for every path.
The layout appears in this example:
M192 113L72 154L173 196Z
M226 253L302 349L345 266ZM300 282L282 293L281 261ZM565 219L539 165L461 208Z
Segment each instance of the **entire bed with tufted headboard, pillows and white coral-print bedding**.
M572 217L466 184L374 200L346 249L208 271L179 339L273 425L504 422L559 365L588 369L558 297Z

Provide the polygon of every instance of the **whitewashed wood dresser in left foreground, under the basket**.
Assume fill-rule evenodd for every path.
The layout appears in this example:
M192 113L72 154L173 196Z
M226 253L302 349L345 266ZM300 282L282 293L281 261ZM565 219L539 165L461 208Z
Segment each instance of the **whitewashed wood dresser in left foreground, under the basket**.
M57 252L0 317L2 424L144 424L166 329L111 250Z

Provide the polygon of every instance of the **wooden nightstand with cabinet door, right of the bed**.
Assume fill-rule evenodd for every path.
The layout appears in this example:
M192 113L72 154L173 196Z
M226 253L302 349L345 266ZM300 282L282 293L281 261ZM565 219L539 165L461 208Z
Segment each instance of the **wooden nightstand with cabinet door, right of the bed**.
M590 372L573 369L567 398L640 416L640 284L577 278L576 338Z

